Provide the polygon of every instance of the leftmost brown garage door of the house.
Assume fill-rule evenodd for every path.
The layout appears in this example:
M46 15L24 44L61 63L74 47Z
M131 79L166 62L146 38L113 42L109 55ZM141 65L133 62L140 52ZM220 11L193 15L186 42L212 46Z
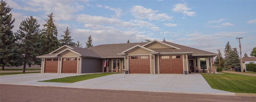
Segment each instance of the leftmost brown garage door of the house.
M45 59L44 73L58 73L58 59Z

